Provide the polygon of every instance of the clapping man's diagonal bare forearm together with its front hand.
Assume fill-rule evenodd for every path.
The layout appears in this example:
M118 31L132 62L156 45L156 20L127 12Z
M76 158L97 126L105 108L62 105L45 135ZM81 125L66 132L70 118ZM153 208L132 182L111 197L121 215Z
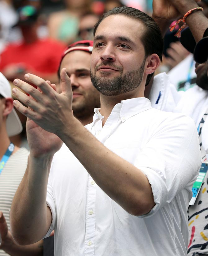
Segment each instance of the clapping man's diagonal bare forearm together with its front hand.
M143 215L150 212L155 206L155 201L151 185L144 172L106 148L73 116L71 109L72 91L66 70L63 69L61 71L62 94L57 94L51 90L43 79L34 75L29 74L26 79L40 87L43 94L39 94L38 91L35 91L35 89L28 84L17 80L16 82L18 83L16 85L28 94L31 94L32 97L37 100L37 102L29 100L25 94L23 95L21 92L15 92L13 90L16 98L19 98L25 104L27 103L34 111L27 109L18 101L15 101L17 109L37 122L43 129L56 133L86 168L97 185L127 212L133 215ZM192 123L190 127L193 128L191 132L195 132L194 135L192 135L194 138L192 139L192 143L197 147L198 136L197 132L194 130L195 126ZM172 132L173 129L170 129L170 131ZM183 130L183 133L181 133L182 143L185 143L183 139L183 137L186 138L185 133L187 133L187 130ZM158 134L160 134L160 132L158 132ZM173 139L174 138L173 136ZM157 139L159 138L155 139L156 144L159 143ZM164 141L167 140L163 140L163 142ZM179 142L181 143L181 141ZM169 143L171 143L171 141ZM172 141L172 143L174 142ZM150 148L152 148L153 151L154 145L155 144L151 142ZM165 147L166 145L163 146ZM171 159L173 161L173 157ZM199 159L198 150L196 153L196 162L199 161ZM174 161L177 162L175 158ZM147 162L149 162L148 159ZM35 179L35 177L32 176L31 178ZM160 190L158 188L158 190L165 191L166 194L163 195L163 200L165 200L166 196L168 196L168 189L165 187L161 178L159 178L159 180L163 189ZM186 182L188 183L189 181L184 179L183 182L186 184ZM176 190L178 190L178 188L174 189L174 191Z

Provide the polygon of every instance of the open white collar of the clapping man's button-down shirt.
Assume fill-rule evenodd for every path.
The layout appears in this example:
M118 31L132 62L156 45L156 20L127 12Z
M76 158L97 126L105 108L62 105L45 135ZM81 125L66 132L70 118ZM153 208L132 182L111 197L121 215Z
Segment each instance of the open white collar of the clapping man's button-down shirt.
M132 99L126 99L122 100L120 103L116 104L114 108L112 109L112 112L120 112L120 117L122 123L125 122L130 117L133 117L134 115L141 113L143 111L146 111L151 107L151 102L144 97L139 98L132 98ZM93 116L93 122L91 123L91 128L93 127L95 121L101 120L104 117L101 115L99 108L94 108L94 116Z

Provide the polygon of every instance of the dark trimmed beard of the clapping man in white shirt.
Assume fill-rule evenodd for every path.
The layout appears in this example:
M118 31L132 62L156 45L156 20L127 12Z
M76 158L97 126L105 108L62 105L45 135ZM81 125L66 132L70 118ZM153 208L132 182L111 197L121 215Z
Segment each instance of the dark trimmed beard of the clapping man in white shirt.
M99 66L112 66L112 62L102 62L102 64L95 67L94 74L92 74L90 71L92 84L101 94L106 96L116 96L131 92L136 89L142 82L145 62L146 58L138 70L129 71L124 75L122 75L123 68L121 69L116 67L116 69L119 69L120 71L120 76L115 78L97 77L95 75ZM105 74L105 72L103 72L103 74Z

